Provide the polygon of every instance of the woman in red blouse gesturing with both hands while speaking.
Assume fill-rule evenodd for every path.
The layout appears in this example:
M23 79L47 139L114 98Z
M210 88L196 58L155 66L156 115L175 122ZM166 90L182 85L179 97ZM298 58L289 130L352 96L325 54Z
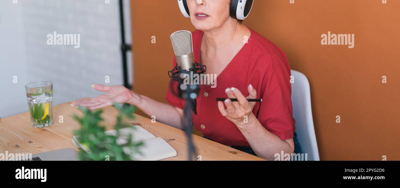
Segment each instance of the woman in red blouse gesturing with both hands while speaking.
M200 87L194 125L209 139L264 159L274 160L274 155L282 151L294 153L290 65L286 55L240 20L231 18L229 5L230 0L187 0L190 21L198 29L192 33L195 61L206 65L207 73L216 74L218 81L216 88ZM128 103L156 116L158 121L184 128L184 100L171 90L166 94L169 104L164 104L123 86L92 87L108 93L72 105L94 110L114 102ZM216 102L222 97L237 98L238 102ZM246 98L262 98L262 102L248 102Z

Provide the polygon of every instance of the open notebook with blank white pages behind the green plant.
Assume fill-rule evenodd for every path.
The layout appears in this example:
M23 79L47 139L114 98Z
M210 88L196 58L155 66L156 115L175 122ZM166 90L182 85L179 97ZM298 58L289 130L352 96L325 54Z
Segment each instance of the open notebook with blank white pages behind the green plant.
M110 135L116 135L115 130L106 131L106 133ZM142 154L134 154L132 156L135 160L157 161L176 156L176 150L172 148L164 139L160 137L155 137L138 125L134 126L134 128L120 129L120 137L118 137L117 139L118 143L126 143L126 139L130 134L132 134L132 141L141 141L143 143L143 146L141 146L139 149ZM76 148L82 148L85 151L90 152L84 144L78 142L78 137L79 136L72 137L72 143L74 144L74 146Z

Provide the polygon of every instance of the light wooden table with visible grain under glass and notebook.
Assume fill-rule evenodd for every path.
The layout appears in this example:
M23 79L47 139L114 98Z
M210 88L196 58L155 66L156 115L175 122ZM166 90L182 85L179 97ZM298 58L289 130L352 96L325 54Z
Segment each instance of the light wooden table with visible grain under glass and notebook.
M34 128L30 124L29 112L2 118L0 123L0 153L42 153L64 148L75 148L71 138L74 129L80 125L72 119L73 114L80 116L82 113L78 108L70 106L71 102L53 106L53 125L46 128ZM26 107L28 108L28 107ZM103 109L103 125L107 130L113 129L118 110L114 107ZM60 117L63 122L60 123ZM168 143L177 151L178 155L165 160L187 160L188 147L184 131L163 123L152 123L150 119L135 115L134 120L127 120L127 123L136 123L152 133L156 137L164 139L175 139ZM204 139L193 135L193 143L202 161L223 161L223 160L264 160L254 155L244 153L226 145Z

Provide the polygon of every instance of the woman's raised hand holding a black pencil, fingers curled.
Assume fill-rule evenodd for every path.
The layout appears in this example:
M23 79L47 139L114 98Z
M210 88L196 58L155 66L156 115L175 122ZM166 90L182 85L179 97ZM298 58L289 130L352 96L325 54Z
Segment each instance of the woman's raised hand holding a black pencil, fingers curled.
M252 111L256 102L248 102L247 99L255 99L257 97L257 92L251 84L248 86L247 90L249 96L245 97L237 88L227 88L225 93L228 95L228 99L223 103L222 101L218 101L218 109L222 116L225 116L237 126L246 125L250 123L250 120L255 118ZM238 102L232 102L229 98L237 98Z

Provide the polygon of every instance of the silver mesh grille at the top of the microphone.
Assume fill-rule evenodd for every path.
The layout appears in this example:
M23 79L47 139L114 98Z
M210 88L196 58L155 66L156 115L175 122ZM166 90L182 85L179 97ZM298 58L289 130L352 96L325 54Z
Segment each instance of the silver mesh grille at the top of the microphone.
M190 31L176 31L171 35L172 46L175 55L187 55L193 53L192 33Z

